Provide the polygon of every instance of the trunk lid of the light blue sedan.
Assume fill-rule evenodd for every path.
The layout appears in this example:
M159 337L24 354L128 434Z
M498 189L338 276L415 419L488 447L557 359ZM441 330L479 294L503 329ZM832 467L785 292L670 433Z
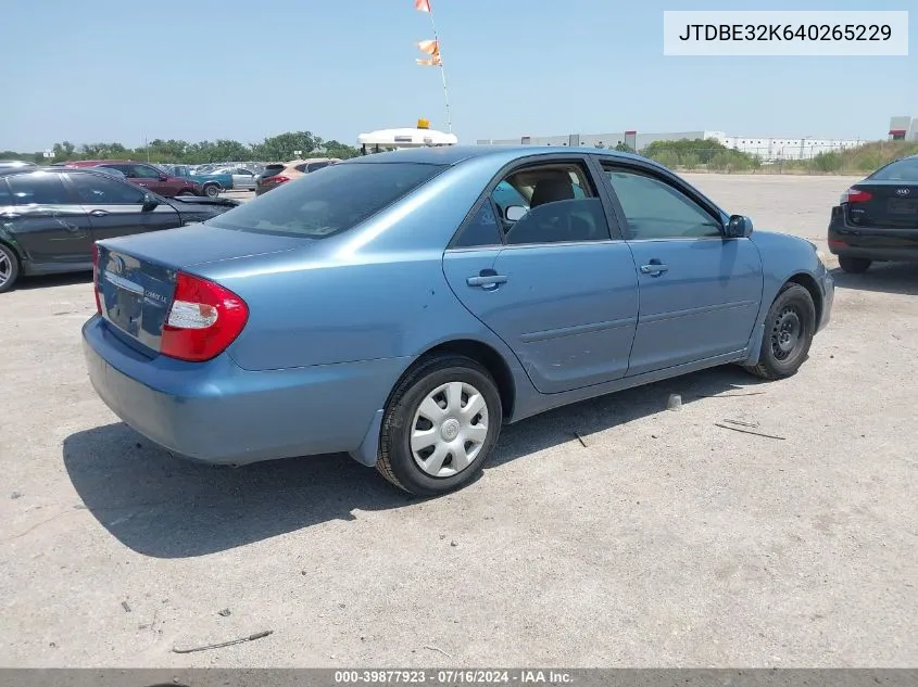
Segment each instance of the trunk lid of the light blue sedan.
M206 225L100 241L102 317L137 351L155 356L179 270L196 265L300 249L312 241L218 229Z

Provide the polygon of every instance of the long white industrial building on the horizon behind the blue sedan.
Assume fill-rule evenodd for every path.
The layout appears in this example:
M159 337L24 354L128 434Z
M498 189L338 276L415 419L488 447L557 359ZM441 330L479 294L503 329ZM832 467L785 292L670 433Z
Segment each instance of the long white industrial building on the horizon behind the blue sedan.
M916 119L913 123L918 123ZM808 160L819 153L845 150L865 143L864 139L830 139L806 136L728 136L724 131L671 131L664 133L639 133L636 130L614 131L609 133L571 133L567 136L524 136L518 139L479 140L485 145L582 145L588 148L615 148L625 143L641 151L654 141L715 140L718 143L744 153L758 155L763 162L777 160Z

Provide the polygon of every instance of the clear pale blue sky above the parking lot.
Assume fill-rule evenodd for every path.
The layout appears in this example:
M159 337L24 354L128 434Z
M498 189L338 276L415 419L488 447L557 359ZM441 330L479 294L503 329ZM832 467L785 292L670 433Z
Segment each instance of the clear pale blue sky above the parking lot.
M905 10L913 0L809 0L807 10ZM909 56L674 58L664 10L792 10L768 0L431 0L461 142L708 130L885 138L918 116ZM3 8L0 150L235 139L291 130L447 128L432 38L413 0L33 0Z

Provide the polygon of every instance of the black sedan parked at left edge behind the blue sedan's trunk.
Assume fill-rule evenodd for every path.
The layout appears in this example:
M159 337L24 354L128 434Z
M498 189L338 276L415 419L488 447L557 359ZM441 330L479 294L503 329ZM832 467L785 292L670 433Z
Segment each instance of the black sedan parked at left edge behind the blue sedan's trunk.
M96 241L183 227L238 204L165 199L91 167L0 169L0 293L21 276L92 269Z

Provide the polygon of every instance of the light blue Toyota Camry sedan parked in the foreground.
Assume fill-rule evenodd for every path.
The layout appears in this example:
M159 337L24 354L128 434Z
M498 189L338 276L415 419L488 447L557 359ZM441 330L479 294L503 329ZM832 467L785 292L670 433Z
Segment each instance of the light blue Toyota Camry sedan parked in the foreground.
M550 408L791 376L834 293L812 243L595 149L368 155L96 258L84 351L127 424L211 463L344 451L422 495Z

